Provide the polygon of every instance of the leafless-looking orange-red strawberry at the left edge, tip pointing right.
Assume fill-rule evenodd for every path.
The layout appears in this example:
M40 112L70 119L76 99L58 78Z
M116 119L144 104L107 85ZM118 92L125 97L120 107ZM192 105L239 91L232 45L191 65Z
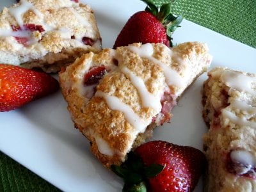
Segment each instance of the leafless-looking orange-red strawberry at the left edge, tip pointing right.
M0 111L10 111L56 92L56 79L35 70L0 64Z

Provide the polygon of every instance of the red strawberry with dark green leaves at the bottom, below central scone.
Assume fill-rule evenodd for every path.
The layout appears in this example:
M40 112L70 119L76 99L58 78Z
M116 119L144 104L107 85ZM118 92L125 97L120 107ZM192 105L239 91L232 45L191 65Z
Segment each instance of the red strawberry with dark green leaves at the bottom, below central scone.
M205 163L204 154L196 148L150 141L112 169L124 178L123 191L193 191Z

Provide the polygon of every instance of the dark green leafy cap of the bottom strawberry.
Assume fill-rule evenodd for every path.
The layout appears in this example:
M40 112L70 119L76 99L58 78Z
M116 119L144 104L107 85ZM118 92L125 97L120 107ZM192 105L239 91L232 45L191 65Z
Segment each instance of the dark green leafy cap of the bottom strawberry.
M134 152L130 152L120 166L111 166L111 170L124 180L123 192L147 192L147 179L156 177L163 168L161 164L145 166Z

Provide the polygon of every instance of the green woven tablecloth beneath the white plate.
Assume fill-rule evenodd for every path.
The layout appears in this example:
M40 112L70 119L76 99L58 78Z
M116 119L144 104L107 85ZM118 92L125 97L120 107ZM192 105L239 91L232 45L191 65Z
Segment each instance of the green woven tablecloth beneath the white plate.
M173 13L256 47L255 0L177 0ZM59 190L0 152L0 191Z

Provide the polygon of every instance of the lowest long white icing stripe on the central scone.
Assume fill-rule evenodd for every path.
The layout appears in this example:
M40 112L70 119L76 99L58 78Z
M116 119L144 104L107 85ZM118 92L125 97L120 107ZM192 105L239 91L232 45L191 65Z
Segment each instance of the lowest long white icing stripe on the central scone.
M139 115L134 113L131 106L122 102L120 99L118 99L118 97L108 95L108 93L104 93L101 91L97 91L95 93L95 97L104 98L110 109L121 111L122 113L124 113L127 122L129 122L129 124L131 124L132 127L134 127L134 129L137 131L134 132L134 135L138 134L138 132L145 131L147 125L151 122L151 119L147 120L147 122L141 119Z

